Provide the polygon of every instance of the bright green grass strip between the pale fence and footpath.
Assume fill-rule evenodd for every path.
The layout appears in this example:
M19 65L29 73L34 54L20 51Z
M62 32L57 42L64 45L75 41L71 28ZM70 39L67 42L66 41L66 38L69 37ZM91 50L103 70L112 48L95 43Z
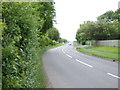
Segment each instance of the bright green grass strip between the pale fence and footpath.
M98 50L98 51L102 51L102 52L109 52L109 53L114 53L114 54L117 54L118 49L120 49L120 47L112 47L112 46L92 46L89 48L93 49L93 50Z

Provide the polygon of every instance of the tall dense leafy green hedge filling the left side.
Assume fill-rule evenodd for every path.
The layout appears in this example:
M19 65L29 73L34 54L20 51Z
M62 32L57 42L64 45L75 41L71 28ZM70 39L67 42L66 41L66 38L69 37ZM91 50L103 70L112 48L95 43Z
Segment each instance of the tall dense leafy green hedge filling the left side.
M51 2L2 3L3 88L35 87L32 77L37 62L33 60L40 49L49 45L50 39L44 33L52 27L54 15Z

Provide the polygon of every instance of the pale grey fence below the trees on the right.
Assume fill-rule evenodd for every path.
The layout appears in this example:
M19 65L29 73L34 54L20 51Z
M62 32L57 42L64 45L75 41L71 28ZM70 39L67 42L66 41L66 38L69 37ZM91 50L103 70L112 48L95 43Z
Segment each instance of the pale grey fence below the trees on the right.
M116 46L120 47L120 40L100 40L93 43L95 46Z

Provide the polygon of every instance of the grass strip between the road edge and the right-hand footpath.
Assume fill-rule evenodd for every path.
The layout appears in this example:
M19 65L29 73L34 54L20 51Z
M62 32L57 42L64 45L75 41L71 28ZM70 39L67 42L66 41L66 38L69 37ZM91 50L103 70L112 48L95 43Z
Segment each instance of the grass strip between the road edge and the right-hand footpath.
M92 51L90 49L84 49L84 48L77 48L77 50L80 51L80 52L87 53L87 54L90 54L90 55L95 55L95 56L98 56L98 57L115 59L115 60L118 60L118 61L120 60L118 58L117 54L106 53L106 52L95 52L95 51Z

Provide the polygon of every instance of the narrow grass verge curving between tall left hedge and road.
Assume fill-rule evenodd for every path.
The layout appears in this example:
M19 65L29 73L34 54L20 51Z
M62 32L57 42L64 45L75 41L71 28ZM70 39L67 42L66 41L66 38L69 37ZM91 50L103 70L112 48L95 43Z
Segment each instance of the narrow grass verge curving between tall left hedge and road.
M35 68L31 72L33 74L32 80L34 81L33 88L46 88L47 87L45 72L43 70L42 56L46 50L52 49L52 48L55 48L61 45L64 45L64 44L60 43L60 44L56 44L55 46L47 46L39 50L39 52L36 52L36 55L33 60Z

